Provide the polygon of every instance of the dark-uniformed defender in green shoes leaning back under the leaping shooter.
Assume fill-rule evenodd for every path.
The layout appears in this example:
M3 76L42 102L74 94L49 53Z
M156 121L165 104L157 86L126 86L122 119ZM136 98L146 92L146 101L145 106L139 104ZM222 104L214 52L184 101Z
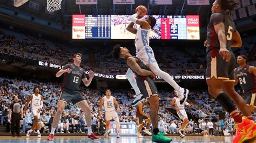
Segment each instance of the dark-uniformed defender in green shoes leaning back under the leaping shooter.
M158 106L159 96L157 87L154 84L153 78L156 77L146 65L137 57L130 54L130 51L125 47L116 45L113 48L112 55L114 59L125 59L126 64L136 75L136 82L142 95L150 104L150 120L153 126L153 134L151 140L154 142L170 142L172 139L164 137L163 133L158 129Z

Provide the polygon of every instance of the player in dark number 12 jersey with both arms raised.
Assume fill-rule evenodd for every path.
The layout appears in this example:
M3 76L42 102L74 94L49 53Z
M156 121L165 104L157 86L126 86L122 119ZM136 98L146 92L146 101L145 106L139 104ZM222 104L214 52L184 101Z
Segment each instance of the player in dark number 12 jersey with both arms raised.
M58 109L53 118L51 133L47 140L53 140L54 132L58 125L58 121L62 112L69 102L72 102L75 105L78 105L85 112L85 120L88 128L88 138L99 139L95 134L92 133L91 129L91 108L88 105L87 101L80 95L79 85L83 81L84 85L88 87L93 78L93 72L89 73L89 80L87 80L85 71L83 68L80 68L80 63L82 61L82 54L73 55L73 63L65 65L62 69L58 71L56 77L59 77L64 74L63 83L62 83L62 92L59 95L58 100ZM67 128L67 130L69 130Z

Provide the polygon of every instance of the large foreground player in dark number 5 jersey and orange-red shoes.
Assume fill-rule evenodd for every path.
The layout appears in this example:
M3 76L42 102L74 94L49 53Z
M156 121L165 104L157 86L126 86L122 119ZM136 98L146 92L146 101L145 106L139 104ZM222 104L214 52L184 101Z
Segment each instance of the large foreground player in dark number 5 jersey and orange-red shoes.
M235 56L231 47L241 47L240 34L235 28L232 18L226 13L238 6L235 0L215 0L212 4L212 15L207 26L206 49L206 82L208 92L217 99L219 104L230 113L235 122L239 123L233 142L244 141L247 134L254 127L254 121L246 106L245 100L234 90ZM235 107L247 117L242 115Z

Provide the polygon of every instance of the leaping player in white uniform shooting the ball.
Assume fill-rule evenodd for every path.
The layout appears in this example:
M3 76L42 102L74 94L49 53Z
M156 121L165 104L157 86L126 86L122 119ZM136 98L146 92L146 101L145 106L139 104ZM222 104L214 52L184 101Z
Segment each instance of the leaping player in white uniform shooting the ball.
M126 30L136 34L135 38L135 47L136 47L136 56L143 61L143 63L150 68L150 70L162 77L167 83L172 85L172 87L178 91L180 104L184 104L187 100L188 90L184 88L180 88L179 85L173 80L173 78L167 74L165 71L161 70L157 64L156 59L154 58L154 52L152 48L149 46L149 37L151 29L156 25L156 19L152 16L147 16L145 20L138 19L138 15L142 10L138 10L137 13L130 17L131 23L127 26ZM140 25L138 29L133 28L134 24ZM134 74L129 68L126 72L126 77L129 80L132 88L136 92L136 99L133 101L132 106L137 105L139 102L143 101L143 96L140 94L138 86L136 84L136 80L134 78Z

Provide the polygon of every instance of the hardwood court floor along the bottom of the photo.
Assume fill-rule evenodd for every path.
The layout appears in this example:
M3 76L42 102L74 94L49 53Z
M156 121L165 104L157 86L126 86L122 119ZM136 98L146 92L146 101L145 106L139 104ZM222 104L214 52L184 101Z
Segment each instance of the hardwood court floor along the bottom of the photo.
M47 141L47 136L42 136L41 138L37 138L36 136L27 137L9 137L9 136L2 136L0 137L0 142L7 143L7 142L15 142L15 143L39 143L39 142L96 142L96 143L119 143L119 142L127 142L127 143L147 143L152 142L151 137L144 137L144 138L137 138L137 137L121 137L117 139L116 137L109 137L103 138L100 137L100 140L91 140L88 139L86 136L56 136L54 141ZM171 137L173 140L172 142L184 142L184 143L193 143L193 142L232 142L233 137L198 137L198 136L190 136L185 138L180 137Z

